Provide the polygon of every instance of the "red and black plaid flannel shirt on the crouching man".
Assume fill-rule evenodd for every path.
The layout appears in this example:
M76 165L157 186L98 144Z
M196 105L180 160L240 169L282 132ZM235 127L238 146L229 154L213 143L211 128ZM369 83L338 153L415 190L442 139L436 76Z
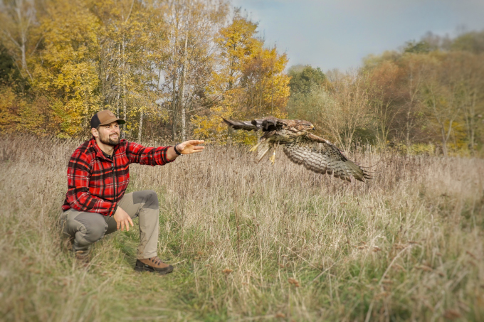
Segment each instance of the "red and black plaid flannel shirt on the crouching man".
M114 215L117 202L125 195L127 184L130 183L130 163L162 166L173 161L167 159L168 148L147 148L120 140L111 161L102 154L94 138L85 141L70 157L68 190L62 209Z

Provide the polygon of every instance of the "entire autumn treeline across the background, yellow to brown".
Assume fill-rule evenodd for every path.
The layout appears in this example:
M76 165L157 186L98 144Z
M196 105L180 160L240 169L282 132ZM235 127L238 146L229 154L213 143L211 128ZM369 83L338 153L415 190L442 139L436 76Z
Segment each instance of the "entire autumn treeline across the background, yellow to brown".
M86 136L111 109L129 139L245 142L221 117L307 119L342 149L473 154L484 31L434 36L322 73L267 48L225 0L0 2L0 133Z

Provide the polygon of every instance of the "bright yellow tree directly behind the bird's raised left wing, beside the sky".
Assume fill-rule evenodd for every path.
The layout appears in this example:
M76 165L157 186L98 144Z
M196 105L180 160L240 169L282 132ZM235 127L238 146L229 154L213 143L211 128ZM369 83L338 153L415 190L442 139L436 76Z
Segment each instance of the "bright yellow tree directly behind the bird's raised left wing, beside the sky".
M227 131L221 117L253 118L273 114L285 116L290 90L289 77L284 69L288 60L277 53L277 48L263 48L256 38L256 23L236 11L231 24L221 28L216 43L219 48L218 64L207 94L221 97L209 114L194 118L195 133L220 141L253 142L255 136L247 133L224 134Z

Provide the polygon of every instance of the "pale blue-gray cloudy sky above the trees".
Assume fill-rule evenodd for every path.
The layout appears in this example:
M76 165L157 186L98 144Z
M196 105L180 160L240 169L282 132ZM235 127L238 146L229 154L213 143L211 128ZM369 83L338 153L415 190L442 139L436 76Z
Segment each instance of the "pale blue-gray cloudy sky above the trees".
M258 22L288 67L349 70L369 54L398 50L431 31L484 30L484 0L232 0ZM244 12L244 11L243 11Z

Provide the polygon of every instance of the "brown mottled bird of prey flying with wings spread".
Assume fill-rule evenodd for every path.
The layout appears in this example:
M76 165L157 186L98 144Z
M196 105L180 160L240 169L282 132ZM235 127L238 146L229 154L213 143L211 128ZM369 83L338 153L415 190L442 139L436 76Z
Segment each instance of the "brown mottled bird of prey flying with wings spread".
M270 161L274 164L275 149L283 146L286 156L297 164L302 164L316 173L332 174L336 178L351 181L353 176L359 181L371 179L371 176L352 161L342 151L325 139L310 133L315 127L307 121L298 119L278 119L265 117L252 121L232 121L223 119L232 129L246 131L262 130L263 136L251 151L257 151L257 161L261 161L274 149Z

